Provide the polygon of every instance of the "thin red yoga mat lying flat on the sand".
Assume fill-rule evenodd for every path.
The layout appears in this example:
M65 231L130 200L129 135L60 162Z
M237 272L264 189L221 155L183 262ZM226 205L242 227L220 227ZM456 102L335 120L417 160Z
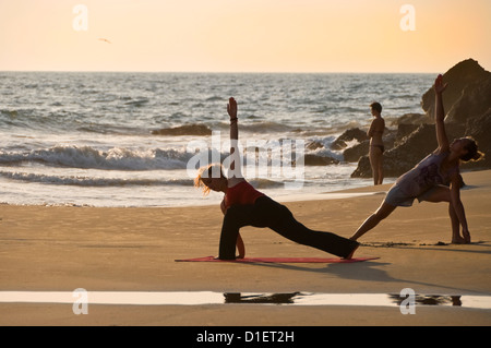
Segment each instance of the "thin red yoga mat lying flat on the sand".
M238 263L355 263L380 257L324 259L324 257L244 257L237 260L217 260L215 256L176 260L176 262L238 262Z

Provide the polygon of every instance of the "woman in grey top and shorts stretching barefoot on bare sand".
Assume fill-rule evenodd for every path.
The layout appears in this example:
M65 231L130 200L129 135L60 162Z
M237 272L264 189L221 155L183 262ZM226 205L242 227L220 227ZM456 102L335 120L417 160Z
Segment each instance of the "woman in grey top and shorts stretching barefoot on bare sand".
M382 219L391 215L397 206L411 206L415 199L419 202L448 202L452 221L452 243L470 243L464 205L460 201L460 161L478 160L482 154L471 137L456 139L448 143L445 132L442 94L446 88L443 76L434 82L435 127L439 147L415 168L397 179L379 209L372 214L350 238L358 240L374 228ZM450 187L448 187L450 185ZM460 236L462 226L462 236Z

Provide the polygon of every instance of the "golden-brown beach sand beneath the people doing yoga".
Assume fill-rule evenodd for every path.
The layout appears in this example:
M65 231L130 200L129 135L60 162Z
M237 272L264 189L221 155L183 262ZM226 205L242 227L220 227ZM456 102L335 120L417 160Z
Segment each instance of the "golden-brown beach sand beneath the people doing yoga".
M217 291L491 295L491 171L465 172L472 243L448 244L447 204L398 208L360 240L352 264L182 263L216 255L218 206L94 208L0 205L0 291ZM350 237L390 184L371 195L285 203L306 226ZM196 199L200 192L196 192ZM243 228L248 256L328 256L268 229ZM443 242L443 243L439 243ZM104 305L0 303L0 325L490 325L491 310L352 305Z

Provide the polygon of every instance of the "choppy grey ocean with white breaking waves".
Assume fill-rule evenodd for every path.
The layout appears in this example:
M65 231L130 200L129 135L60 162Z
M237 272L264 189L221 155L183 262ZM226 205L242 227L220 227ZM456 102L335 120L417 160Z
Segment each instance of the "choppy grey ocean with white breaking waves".
M203 196L193 179L205 158L228 156L230 96L239 104L244 154L258 147L258 158L244 156L244 164L256 166L246 178L262 192L283 200L370 185L372 180L350 178L357 164L345 163L342 152L331 151L330 144L347 129L367 128L372 101L382 104L386 120L421 113L421 96L433 79L433 74L0 72L0 203L106 207L219 203L223 194ZM339 163L302 165L300 155ZM282 168L294 168L296 175Z

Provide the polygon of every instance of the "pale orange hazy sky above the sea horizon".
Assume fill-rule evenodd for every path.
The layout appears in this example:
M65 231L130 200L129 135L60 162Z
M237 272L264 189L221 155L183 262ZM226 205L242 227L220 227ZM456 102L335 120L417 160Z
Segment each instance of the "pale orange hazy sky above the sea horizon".
M491 70L490 15L490 0L0 0L0 71Z

